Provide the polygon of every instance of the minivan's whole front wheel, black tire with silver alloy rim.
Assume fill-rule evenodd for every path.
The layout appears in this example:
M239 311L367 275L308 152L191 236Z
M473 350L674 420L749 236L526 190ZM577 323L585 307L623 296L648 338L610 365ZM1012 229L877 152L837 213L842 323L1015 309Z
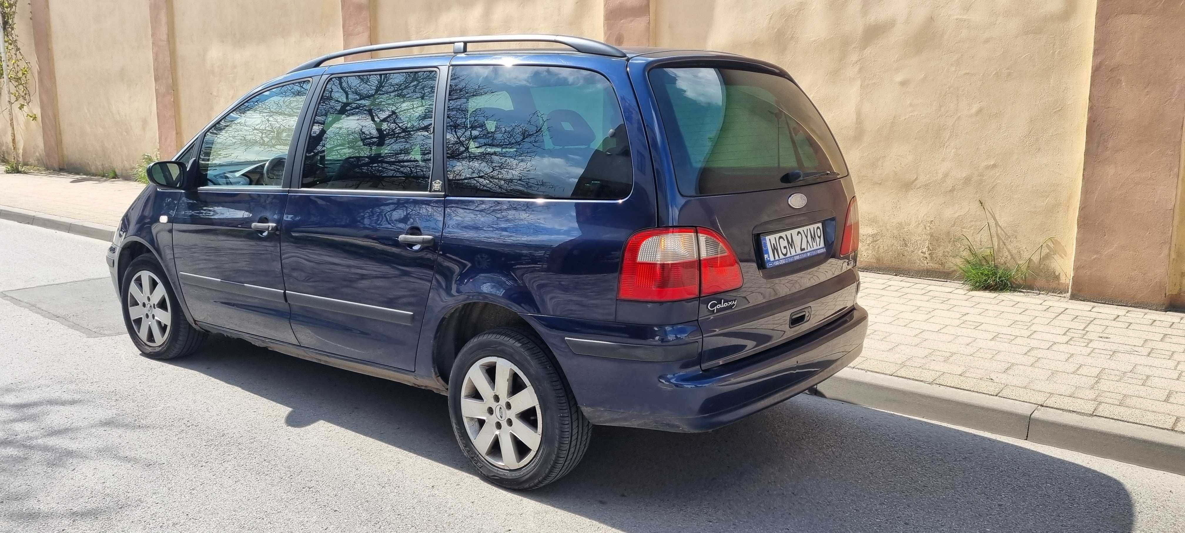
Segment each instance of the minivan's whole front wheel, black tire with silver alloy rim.
M132 259L120 283L128 336L145 357L177 359L198 349L206 333L185 320L168 276L150 255Z

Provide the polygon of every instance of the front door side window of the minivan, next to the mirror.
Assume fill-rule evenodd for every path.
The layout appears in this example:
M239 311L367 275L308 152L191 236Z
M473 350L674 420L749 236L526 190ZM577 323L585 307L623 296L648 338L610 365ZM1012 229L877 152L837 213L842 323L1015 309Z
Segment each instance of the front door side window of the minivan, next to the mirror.
M278 187L308 82L289 83L243 102L206 131L200 185Z

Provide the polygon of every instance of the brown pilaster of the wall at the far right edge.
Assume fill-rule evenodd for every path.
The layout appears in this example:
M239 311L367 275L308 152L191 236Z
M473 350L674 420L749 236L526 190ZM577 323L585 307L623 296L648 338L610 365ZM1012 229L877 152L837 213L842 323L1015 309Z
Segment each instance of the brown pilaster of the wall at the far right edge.
M1070 293L1162 307L1185 266L1178 253L1170 268L1172 239L1185 239L1185 1L1100 0L1094 63Z

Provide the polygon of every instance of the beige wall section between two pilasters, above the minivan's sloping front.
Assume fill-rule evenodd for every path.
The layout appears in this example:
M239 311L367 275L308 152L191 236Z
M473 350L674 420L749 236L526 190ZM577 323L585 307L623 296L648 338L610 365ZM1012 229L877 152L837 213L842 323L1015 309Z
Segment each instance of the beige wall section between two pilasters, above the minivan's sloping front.
M251 88L341 50L340 13L339 0L173 0L182 142Z

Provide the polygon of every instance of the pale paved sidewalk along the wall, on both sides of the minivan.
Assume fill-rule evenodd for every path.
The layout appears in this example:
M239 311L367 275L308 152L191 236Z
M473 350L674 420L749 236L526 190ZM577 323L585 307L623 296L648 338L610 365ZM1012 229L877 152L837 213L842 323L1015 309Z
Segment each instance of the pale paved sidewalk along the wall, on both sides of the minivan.
M0 207L116 226L142 185L0 174ZM871 372L1185 432L1185 314L863 272Z

